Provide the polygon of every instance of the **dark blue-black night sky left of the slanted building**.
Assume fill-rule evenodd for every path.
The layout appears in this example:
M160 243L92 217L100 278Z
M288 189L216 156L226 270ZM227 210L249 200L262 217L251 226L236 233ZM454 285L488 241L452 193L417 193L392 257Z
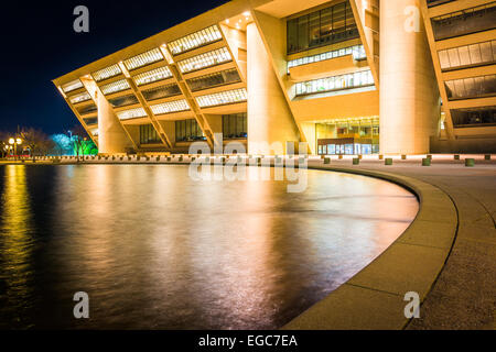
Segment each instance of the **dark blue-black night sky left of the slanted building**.
M77 123L52 79L214 9L226 0L2 3L0 131L61 133ZM75 33L76 6L89 33ZM188 34L188 33L184 33Z

